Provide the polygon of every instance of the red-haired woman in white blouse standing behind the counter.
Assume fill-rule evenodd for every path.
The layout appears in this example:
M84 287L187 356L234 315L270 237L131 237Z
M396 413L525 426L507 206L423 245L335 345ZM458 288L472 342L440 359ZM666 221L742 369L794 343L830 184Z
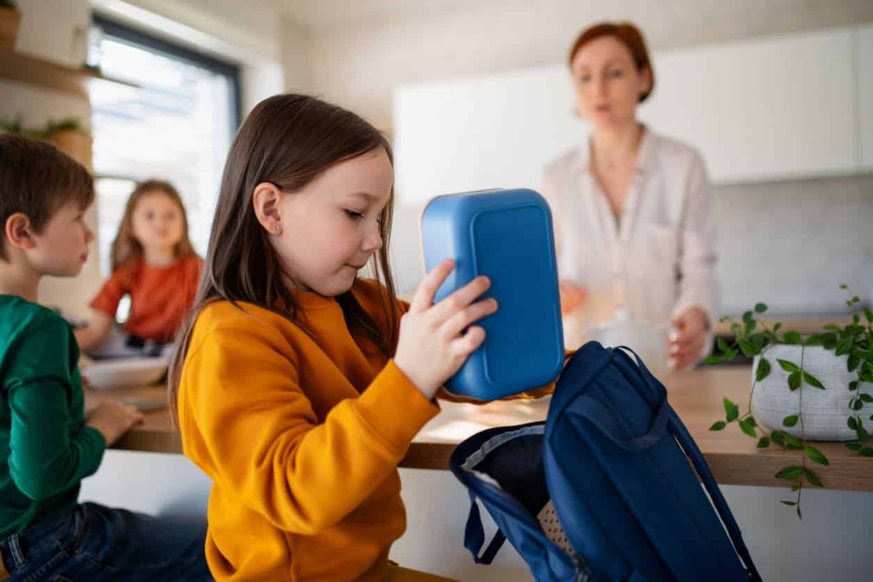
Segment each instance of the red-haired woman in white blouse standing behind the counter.
M569 55L588 140L546 166L567 322L666 324L674 365L694 365L718 320L712 196L697 150L636 120L654 74L633 24L598 24Z

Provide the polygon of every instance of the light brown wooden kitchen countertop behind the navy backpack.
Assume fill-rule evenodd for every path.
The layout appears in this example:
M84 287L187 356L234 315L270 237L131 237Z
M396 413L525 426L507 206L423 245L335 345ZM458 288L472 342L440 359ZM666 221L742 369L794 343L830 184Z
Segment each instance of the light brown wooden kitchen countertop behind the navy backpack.
M740 433L732 424L720 432L709 430L712 422L723 420L722 399L726 396L746 410L751 379L749 366L714 366L691 372L670 373L662 378L670 404L676 409L703 451L718 483L787 487L776 479L777 471L800 464L799 451L758 449L756 440ZM95 396L89 391L89 398ZM163 387L119 389L97 396L137 396L162 401ZM540 401L498 401L477 406L441 401L443 412L424 426L409 447L400 466L414 469L448 469L449 455L457 442L485 428L545 420L550 399ZM828 456L828 467L813 463L825 487L832 490L873 491L873 457L852 453L840 442L815 445ZM122 450L181 453L178 431L170 425L165 409L148 413L146 421L130 431L113 448Z

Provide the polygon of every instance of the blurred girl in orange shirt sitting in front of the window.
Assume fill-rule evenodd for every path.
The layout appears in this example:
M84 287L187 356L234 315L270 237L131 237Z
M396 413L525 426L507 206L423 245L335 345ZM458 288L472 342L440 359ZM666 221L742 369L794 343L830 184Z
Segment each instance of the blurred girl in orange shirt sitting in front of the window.
M75 332L79 348L98 358L161 353L188 314L202 265L179 192L167 181L142 182L127 200L112 244L112 276L91 302L94 317ZM130 316L118 329L125 295Z

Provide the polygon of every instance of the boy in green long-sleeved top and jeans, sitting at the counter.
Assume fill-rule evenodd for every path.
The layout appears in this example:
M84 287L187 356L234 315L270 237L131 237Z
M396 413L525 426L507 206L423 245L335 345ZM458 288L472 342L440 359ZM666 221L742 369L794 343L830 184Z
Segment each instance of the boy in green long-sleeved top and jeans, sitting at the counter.
M0 134L0 580L210 580L205 524L78 502L107 445L142 420L111 400L86 420L79 346L37 303L40 278L85 264L93 198L76 161Z

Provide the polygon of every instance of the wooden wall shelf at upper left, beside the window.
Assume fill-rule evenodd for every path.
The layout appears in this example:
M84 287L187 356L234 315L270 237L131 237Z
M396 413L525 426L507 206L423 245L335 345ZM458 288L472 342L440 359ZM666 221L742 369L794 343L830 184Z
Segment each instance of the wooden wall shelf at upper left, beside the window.
M0 49L0 78L38 85L55 91L69 92L88 98L94 86L111 83L115 86L138 87L134 83L109 79L99 71L86 67L59 65L45 58L23 52Z

